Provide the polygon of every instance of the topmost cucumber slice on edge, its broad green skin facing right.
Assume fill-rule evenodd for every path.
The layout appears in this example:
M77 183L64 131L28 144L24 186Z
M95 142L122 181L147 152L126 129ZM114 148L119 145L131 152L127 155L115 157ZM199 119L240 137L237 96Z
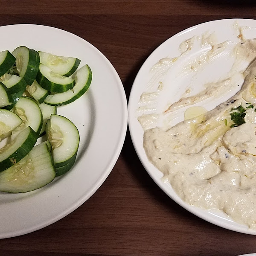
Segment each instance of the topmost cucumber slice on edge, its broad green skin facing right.
M17 47L12 54L16 58L16 68L28 85L31 85L38 73L40 57L37 51L25 46Z

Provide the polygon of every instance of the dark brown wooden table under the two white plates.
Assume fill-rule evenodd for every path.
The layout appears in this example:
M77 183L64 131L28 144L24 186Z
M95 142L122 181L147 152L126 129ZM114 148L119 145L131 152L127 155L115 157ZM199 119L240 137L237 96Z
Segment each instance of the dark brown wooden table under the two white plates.
M127 97L148 55L198 23L256 18L256 7L220 0L0 0L0 26L35 23L89 41L116 68ZM4 35L1 35L4 40ZM129 132L98 191L60 221L0 240L0 255L235 256L256 252L256 237L217 227L187 212L143 168Z

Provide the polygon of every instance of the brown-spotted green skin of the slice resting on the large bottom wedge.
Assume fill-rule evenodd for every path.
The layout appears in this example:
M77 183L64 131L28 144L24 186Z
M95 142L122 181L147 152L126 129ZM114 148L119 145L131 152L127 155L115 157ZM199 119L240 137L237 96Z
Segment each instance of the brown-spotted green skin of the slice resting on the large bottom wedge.
M34 147L38 139L38 134L32 128L29 127L29 129L30 129L29 136L24 141L23 146L19 147L17 151L15 151L13 154L11 154L8 158L6 158L0 163L0 172L10 168L15 163L18 163Z

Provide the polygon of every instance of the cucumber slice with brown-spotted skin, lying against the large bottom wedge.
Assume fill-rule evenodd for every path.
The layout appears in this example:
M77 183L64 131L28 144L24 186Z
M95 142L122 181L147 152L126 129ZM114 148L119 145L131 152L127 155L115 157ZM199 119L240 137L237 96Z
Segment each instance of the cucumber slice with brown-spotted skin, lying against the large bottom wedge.
M18 163L33 148L38 134L29 126L20 132L15 140L0 149L0 172Z

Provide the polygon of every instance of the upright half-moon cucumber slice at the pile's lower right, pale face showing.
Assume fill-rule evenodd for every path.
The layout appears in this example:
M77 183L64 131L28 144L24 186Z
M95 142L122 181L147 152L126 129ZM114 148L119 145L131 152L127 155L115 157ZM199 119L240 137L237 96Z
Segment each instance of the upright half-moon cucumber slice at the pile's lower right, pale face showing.
M64 116L52 114L46 125L47 139L52 145L54 167L73 162L79 147L79 131L76 125Z

